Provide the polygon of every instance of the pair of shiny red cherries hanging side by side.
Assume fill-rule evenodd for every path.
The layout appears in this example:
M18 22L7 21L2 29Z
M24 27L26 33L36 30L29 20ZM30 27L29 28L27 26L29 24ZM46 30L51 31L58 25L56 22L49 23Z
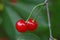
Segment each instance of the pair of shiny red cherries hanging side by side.
M18 32L26 32L27 30L34 31L36 28L37 22L32 18L30 18L27 22L25 22L23 19L16 22L16 30Z

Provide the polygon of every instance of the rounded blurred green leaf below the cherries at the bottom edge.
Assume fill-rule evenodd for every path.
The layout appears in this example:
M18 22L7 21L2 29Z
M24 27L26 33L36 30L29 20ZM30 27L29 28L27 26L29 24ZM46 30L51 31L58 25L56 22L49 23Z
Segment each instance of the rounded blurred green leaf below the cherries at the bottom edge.
M21 33L17 40L41 40L40 37L33 33Z

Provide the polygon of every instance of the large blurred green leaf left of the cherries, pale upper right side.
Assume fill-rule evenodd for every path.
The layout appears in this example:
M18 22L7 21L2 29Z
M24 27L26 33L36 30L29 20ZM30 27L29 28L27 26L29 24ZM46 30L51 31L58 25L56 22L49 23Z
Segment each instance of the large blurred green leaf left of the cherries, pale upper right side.
M18 35L18 32L15 29L15 23L19 19L21 19L21 17L15 11L13 11L13 9L11 9L9 6L5 6L3 27L11 40L16 40L15 38Z

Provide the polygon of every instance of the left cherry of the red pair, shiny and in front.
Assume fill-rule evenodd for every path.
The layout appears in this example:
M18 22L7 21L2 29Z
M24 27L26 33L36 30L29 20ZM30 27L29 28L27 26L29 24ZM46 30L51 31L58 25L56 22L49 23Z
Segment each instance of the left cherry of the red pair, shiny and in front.
M26 32L27 31L27 26L24 20L18 20L16 22L16 29L18 32Z

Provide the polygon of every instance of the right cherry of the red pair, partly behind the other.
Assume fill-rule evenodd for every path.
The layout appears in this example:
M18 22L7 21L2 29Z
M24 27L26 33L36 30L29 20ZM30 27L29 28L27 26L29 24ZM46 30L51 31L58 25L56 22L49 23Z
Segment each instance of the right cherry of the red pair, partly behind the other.
M37 28L37 22L35 20L33 20L32 18L30 18L27 21L27 27L28 27L28 30L34 31Z

